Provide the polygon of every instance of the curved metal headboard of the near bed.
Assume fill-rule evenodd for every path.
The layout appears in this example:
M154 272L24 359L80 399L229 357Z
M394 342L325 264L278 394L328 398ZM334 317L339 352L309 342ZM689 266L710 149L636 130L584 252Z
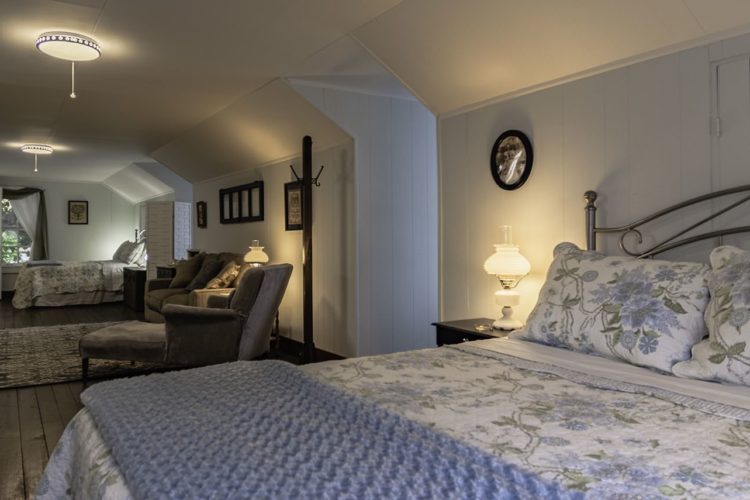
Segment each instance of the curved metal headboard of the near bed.
M583 195L583 199L586 200L586 208L585 208L586 210L586 248L588 250L596 250L596 236L599 233L615 233L615 234L619 233L620 234L620 241L619 241L620 249L626 254L631 255L633 257L644 258L644 257L653 257L654 255L660 254L662 252L666 252L667 250L672 250L673 248L677 248L683 245L688 245L690 243L695 243L697 241L708 240L711 238L719 238L719 237L730 235L730 234L750 232L750 226L738 226L738 227L719 229L716 231L701 233L695 236L681 238L682 236L689 233L693 229L696 229L700 227L701 225L719 217L720 215L723 215L729 212L730 210L733 210L739 207L743 203L750 201L750 195L747 195L731 203L727 207L722 208L718 212L713 213L707 217L704 217L698 222L691 224L689 227L660 241L659 243L655 244L654 246L652 246L651 248L647 250L640 251L640 250L629 249L625 241L628 235L632 234L635 236L636 244L640 245L641 243L643 243L643 235L641 234L641 231L639 230L639 228L641 226L644 226L645 224L648 224L649 222L653 222L656 219L659 219L668 214L682 210L683 208L696 205L698 203L720 199L720 198L731 196L737 193L747 193L747 192L750 192L750 184L747 184L744 186L738 186L738 187L734 187L730 189L724 189L721 191L704 194L702 196L697 196L687 201L683 201L682 203L678 203L676 205L672 205L671 207L665 208L663 210L659 210L658 212L655 212L652 215L649 215L642 219L638 219L635 222L631 222L630 224L625 224L624 226L597 227L596 225L596 199L598 195L596 194L596 191L586 191L586 193L584 193Z

